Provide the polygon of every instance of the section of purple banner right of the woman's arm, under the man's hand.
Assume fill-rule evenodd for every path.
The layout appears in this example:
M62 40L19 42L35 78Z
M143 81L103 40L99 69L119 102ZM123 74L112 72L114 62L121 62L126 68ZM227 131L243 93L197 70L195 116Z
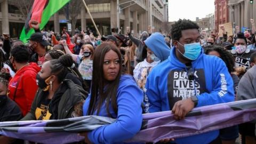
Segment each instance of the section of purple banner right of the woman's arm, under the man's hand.
M193 109L175 121L171 111L143 115L145 126L131 141L157 142L219 130L256 119L256 99L221 103Z

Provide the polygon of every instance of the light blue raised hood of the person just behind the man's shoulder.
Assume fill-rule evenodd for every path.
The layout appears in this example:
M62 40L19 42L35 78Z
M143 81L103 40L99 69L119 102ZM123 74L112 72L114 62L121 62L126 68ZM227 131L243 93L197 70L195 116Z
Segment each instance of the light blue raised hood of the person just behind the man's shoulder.
M171 49L166 44L164 36L160 33L152 34L146 39L145 44L161 61L166 60L170 55Z

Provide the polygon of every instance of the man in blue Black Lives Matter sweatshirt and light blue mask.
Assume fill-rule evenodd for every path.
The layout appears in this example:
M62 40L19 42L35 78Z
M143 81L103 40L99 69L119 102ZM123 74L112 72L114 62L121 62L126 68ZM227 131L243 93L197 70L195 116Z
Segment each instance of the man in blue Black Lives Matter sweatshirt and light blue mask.
M172 110L179 120L195 107L234 101L228 69L220 58L204 54L198 29L196 23L185 19L172 27L174 47L170 57L157 65L147 79L145 93L150 113ZM174 142L219 143L218 135L219 131L212 131Z

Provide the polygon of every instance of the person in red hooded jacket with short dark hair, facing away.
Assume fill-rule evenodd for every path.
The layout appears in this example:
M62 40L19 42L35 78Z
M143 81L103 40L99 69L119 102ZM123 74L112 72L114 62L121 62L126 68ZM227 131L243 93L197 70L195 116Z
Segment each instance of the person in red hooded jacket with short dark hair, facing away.
M25 116L31 107L38 89L36 74L41 70L35 62L29 63L29 51L25 46L16 46L11 50L10 61L16 70L9 82L10 99L15 101Z

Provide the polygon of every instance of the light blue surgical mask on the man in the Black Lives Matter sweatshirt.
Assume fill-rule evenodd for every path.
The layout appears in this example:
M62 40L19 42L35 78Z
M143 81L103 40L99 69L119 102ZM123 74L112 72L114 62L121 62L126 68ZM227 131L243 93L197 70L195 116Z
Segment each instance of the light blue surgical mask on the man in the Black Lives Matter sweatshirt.
M178 42L178 41L177 41ZM179 42L178 42L179 43ZM180 43L179 43L180 44ZM182 44L180 44L182 45ZM179 49L178 51L187 59L189 60L196 60L200 53L201 53L201 45L200 43L191 43L191 44L185 44L185 45L182 45L184 46L184 49L185 49L185 53L182 54Z

